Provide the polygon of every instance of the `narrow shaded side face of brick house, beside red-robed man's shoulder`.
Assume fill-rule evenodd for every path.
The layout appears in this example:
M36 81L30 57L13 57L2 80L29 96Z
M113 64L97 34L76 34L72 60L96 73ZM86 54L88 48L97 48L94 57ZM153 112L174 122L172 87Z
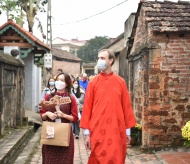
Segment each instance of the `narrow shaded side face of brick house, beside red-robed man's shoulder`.
M128 63L128 87L136 121L144 125L143 112L148 109L149 51L131 57Z

